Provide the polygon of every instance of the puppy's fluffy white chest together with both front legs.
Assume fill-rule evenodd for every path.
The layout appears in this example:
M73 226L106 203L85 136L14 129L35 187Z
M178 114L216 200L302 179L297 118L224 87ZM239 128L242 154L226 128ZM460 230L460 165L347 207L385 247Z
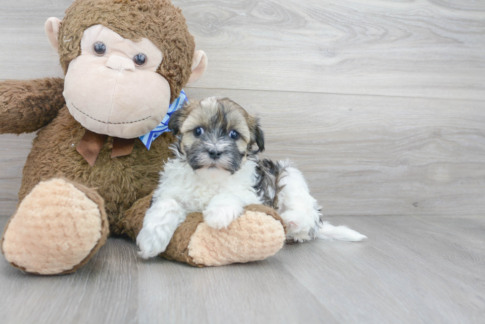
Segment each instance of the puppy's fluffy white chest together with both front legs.
M159 185L137 236L142 258L164 252L189 213L202 211L207 225L222 229L242 214L244 206L261 203L252 188L255 162L247 161L232 175L217 169L194 172L182 156L177 155L160 173Z

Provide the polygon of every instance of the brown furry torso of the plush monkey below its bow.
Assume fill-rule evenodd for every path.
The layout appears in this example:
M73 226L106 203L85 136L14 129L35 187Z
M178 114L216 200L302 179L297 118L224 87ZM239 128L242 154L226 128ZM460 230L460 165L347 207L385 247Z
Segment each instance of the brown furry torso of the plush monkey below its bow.
M91 167L76 151L85 131L63 107L56 118L38 132L24 166L19 201L39 182L62 175L76 183L97 188L105 200L110 231L122 234L125 228L120 220L125 211L137 199L155 189L158 173L170 155L168 146L172 142L172 134L160 135L153 141L150 150L137 139L130 155L117 158L111 158L113 139L108 138L95 167Z

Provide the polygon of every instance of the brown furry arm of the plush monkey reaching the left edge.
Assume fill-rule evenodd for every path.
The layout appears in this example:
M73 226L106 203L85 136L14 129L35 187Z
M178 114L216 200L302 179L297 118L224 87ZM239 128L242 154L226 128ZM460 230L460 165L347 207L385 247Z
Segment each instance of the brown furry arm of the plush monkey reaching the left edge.
M31 133L46 126L65 104L64 79L0 82L0 134Z

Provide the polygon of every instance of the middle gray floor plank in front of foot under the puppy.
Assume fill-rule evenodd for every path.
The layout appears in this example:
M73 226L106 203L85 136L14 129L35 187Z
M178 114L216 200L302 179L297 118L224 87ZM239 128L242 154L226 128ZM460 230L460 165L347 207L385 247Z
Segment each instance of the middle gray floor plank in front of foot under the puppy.
M281 261L194 268L140 264L140 323L339 323Z

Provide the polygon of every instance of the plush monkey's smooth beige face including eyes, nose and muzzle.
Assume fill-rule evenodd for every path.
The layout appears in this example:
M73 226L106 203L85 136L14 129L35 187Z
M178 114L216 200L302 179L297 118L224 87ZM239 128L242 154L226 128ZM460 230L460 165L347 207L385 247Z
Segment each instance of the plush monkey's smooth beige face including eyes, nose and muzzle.
M163 59L147 38L134 42L102 25L86 29L65 77L69 112L98 134L130 139L148 133L170 104L169 83L156 72Z

